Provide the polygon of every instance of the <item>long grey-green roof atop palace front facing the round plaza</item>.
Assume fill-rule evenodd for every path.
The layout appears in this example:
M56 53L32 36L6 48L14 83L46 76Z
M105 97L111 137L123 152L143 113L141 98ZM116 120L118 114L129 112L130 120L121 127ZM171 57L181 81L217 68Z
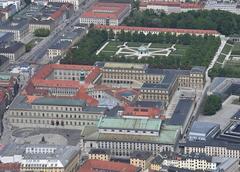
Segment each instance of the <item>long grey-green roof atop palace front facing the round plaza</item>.
M46 98L41 97L32 102L34 105L56 105L56 106L85 106L85 101L68 98Z

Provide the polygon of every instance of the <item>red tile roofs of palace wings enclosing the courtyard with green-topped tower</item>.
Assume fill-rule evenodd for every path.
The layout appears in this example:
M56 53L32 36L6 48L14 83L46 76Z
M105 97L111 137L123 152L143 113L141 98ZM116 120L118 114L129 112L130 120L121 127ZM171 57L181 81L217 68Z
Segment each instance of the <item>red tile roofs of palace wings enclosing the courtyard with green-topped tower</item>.
M51 80L46 79L51 75L54 70L78 70L87 71L84 83L74 80ZM28 82L25 89L22 91L24 95L37 95L37 96L49 96L49 88L74 88L77 90L76 95L73 97L83 99L87 104L95 106L98 101L91 96L87 95L87 87L93 83L100 74L99 67L87 66L87 65L61 65L61 64L49 64L43 66ZM45 89L44 89L45 88Z

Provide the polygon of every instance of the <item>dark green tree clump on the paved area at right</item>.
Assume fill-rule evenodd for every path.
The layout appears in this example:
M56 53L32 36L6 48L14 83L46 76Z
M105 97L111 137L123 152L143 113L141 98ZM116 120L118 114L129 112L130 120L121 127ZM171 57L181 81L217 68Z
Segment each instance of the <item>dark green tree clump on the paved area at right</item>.
M207 97L204 105L204 115L214 115L222 108L222 100L220 96L210 95Z

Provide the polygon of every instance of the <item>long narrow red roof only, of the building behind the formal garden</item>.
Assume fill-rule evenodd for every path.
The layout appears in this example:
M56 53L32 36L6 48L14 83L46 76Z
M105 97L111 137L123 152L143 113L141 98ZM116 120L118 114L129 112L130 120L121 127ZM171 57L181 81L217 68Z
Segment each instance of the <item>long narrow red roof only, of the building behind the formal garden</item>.
M200 30L200 29L175 29L175 28L150 28L150 27L132 27L132 26L107 26L96 25L96 29L112 29L114 31L141 31L141 32L170 32L176 34L198 34L198 35L219 35L216 30Z

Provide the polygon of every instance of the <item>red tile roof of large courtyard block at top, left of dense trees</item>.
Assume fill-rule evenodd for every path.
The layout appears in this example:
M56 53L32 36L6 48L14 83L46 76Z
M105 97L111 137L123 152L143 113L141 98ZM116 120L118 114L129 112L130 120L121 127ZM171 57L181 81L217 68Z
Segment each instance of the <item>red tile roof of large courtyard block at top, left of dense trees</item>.
M119 19L121 13L130 6L124 3L102 3L96 2L89 10L84 12L82 18L110 18Z

